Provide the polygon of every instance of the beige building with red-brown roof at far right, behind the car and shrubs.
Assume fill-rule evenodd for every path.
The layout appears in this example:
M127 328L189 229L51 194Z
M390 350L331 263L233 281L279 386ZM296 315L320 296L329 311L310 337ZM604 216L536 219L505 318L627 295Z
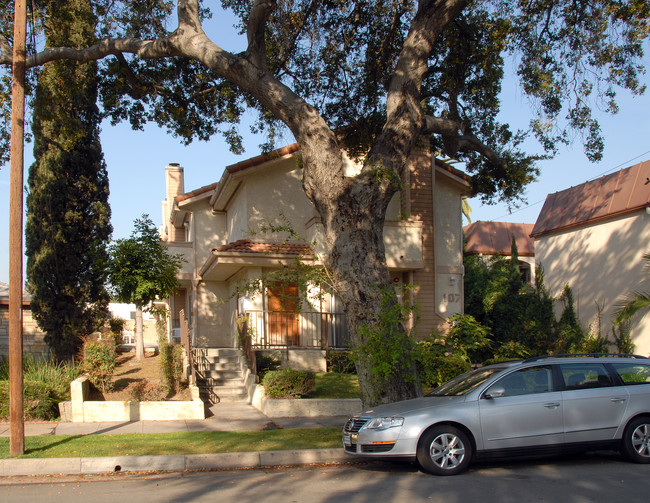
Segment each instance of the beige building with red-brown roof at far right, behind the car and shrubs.
M642 289L650 252L650 161L550 194L532 231L544 282L558 296L573 290L578 316L611 335L616 302ZM647 287L646 287L647 288ZM650 314L633 320L636 351L650 354Z

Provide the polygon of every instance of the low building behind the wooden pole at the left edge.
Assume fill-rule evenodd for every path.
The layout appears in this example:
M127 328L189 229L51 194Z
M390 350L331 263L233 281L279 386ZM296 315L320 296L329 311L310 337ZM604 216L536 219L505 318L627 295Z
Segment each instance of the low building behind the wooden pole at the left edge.
M45 334L32 318L31 297L23 292L23 353L36 358L49 358ZM9 285L0 283L0 356L9 355Z

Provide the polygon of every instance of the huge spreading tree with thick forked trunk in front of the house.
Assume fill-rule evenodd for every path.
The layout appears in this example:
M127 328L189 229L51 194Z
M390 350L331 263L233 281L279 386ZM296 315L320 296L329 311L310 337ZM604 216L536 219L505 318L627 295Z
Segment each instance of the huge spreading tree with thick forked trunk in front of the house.
M152 120L188 142L222 132L241 151L237 124L249 107L271 139L290 131L351 337L366 347L364 334L379 334L402 355L404 327L382 326L391 288L382 230L423 138L466 161L477 194L516 201L537 175L536 158L521 150L527 133L552 155L577 132L597 159L592 106L614 112L619 89L645 89L649 0L222 0L246 34L240 53L203 29L207 2L93 1L105 40L39 51L29 66L106 58L101 97L111 119ZM11 62L10 10L0 15L0 64ZM497 119L507 60L534 105L528 131ZM363 154L356 175L344 151ZM408 357L394 355L378 376L372 352L358 356L366 406L419 394Z

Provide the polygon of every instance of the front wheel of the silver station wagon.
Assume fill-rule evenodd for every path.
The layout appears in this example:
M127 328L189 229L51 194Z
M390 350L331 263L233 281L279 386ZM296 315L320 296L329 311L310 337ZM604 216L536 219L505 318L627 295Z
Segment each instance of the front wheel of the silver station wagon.
M434 475L457 475L467 469L472 453L472 443L463 431L441 425L422 435L417 461L424 471Z

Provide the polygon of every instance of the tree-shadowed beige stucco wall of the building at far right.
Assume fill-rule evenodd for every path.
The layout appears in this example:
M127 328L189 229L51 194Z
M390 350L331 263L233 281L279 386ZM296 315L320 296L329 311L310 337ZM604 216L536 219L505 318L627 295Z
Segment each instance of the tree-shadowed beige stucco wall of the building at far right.
M621 295L643 290L647 281L643 255L650 251L650 215L646 211L535 240L535 258L544 267L544 282L558 296L569 284L581 323L595 326L602 308L603 335ZM645 289L647 290L647 283ZM650 314L633 320L636 352L650 354Z

